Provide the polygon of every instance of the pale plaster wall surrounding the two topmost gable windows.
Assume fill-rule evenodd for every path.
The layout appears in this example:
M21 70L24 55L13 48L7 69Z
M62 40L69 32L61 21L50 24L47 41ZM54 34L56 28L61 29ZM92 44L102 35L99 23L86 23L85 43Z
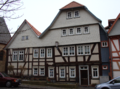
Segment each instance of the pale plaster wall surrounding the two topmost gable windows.
M66 13L67 11L63 11L54 24L52 25L51 28L59 28L59 27L68 27L68 26L75 26L75 25L85 25L85 24L92 24L92 23L98 23L98 21L91 15L89 14L86 10L80 9L80 18L72 18L72 19L67 19L66 18ZM74 11L72 11L74 13Z

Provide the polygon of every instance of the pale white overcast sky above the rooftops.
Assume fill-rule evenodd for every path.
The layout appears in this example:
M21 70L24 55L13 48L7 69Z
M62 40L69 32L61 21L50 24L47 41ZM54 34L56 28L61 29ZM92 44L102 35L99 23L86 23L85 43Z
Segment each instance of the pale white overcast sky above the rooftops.
M96 17L102 20L102 25L108 25L108 19L114 19L120 13L120 0L75 0L85 5ZM15 32L26 19L41 33L51 24L59 9L72 0L22 0L22 9L16 15L17 19L5 19L10 33Z

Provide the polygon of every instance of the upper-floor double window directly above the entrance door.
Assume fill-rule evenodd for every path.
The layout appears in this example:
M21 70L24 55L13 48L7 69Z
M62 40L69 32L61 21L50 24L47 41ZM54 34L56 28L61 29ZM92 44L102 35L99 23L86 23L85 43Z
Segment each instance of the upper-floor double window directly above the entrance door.
M77 47L77 54L78 55L90 55L91 51L90 51L90 45L80 45Z

